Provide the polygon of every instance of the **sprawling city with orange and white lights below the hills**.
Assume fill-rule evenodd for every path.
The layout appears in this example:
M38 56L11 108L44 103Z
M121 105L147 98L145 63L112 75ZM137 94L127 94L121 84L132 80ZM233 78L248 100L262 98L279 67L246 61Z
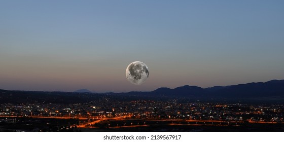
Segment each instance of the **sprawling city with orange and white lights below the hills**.
M234 129L256 124L281 126L284 115L283 104L206 102L185 98L115 94L73 94L80 97L89 96L88 99L92 101L47 103L35 102L31 98L29 102L2 103L0 108L2 125L20 123L34 127L0 128L4 131L75 131L75 128L77 131L143 131L147 127L156 126L154 130L157 131L180 131L179 128L171 128L178 126L182 127L183 131L192 131L192 126L201 130L205 126L217 128L226 126ZM37 126L35 125L37 121L44 124ZM263 129L257 128L255 131Z

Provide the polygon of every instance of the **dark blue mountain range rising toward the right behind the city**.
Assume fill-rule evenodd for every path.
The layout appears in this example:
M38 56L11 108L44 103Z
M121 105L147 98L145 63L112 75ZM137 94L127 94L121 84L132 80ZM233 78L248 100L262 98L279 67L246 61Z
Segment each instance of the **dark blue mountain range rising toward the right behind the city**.
M128 92L117 93L128 95L165 95L190 98L256 98L284 96L284 80L271 80L268 82L257 82L238 84L231 86L215 86L201 88L198 86L181 86L174 89L158 88L151 92Z

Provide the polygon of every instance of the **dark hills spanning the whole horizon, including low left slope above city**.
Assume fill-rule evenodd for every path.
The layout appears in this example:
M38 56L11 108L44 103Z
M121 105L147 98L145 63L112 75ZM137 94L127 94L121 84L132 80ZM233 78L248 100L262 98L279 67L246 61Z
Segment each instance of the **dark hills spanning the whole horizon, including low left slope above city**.
M79 90L80 91L80 90ZM9 91L0 90L0 103L8 102L25 102L29 99L38 102L85 102L97 99L97 96L105 94L90 93L89 90L81 90L76 92L41 92L41 91ZM127 92L127 93L108 93L112 95L127 96L167 96L167 97L183 97L183 98L204 98L204 99L274 99L284 100L284 80L271 80L268 82L257 82L238 84L231 86L215 86L210 88L201 88L198 86L181 86L174 89L158 88L151 92Z

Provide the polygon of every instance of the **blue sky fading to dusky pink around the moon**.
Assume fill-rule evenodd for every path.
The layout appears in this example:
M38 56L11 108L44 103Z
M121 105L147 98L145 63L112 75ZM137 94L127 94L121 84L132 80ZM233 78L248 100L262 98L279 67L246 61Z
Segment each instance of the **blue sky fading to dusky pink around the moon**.
M142 85L125 77L142 61ZM284 1L1 1L0 89L152 91L284 79Z

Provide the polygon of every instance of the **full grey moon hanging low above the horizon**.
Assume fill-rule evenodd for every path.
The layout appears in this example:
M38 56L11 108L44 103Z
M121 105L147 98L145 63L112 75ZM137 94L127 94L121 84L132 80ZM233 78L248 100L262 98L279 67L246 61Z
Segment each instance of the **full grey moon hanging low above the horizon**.
M148 66L140 61L130 63L126 68L126 78L135 85L143 84L149 77Z

